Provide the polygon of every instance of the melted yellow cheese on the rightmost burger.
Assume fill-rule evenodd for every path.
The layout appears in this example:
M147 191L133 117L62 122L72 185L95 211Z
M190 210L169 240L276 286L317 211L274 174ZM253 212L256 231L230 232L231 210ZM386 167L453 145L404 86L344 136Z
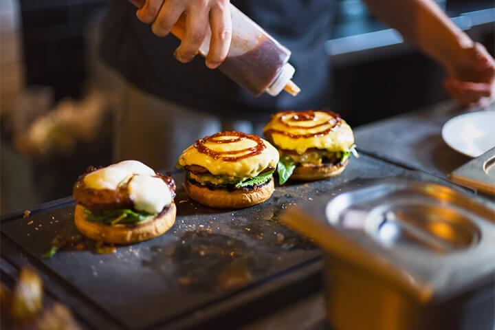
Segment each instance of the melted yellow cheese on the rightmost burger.
M331 121L333 117L329 113L322 111L315 111L314 120L306 121L296 121L292 119L292 114L287 115L287 113L285 113L285 122L292 126L311 127L316 126L317 124L329 122L329 124L318 126L313 129L287 127L278 121L278 118L282 115L284 115L283 112L273 115L272 120L268 122L263 129L263 132L269 129L276 129L277 131L283 131L293 135L313 134L325 131L333 126L333 123L329 122L329 120ZM294 150L298 154L305 153L305 151L309 148L327 149L328 151L349 151L351 146L354 144L354 135L351 126L342 120L342 124L340 124L340 126L336 126L334 129L329 131L329 133L320 137L294 138L280 133L273 133L272 142L279 148Z

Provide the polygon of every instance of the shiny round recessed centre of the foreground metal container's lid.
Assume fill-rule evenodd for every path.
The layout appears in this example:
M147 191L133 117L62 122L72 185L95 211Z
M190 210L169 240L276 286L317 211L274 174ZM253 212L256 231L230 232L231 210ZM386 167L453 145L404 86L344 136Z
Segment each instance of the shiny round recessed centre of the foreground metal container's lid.
M333 225L362 228L383 245L448 253L478 243L480 231L465 210L439 202L430 184L382 184L347 192L327 204ZM458 201L464 197L457 197Z

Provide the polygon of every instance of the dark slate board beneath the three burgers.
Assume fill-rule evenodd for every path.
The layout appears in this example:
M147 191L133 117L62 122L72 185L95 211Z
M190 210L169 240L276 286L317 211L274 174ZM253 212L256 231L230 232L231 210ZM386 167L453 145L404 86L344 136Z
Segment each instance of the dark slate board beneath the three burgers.
M268 201L243 210L198 205L182 188L184 174L175 173L177 219L173 228L157 239L120 246L114 254L68 250L43 260L40 256L50 249L54 236L78 234L74 202L64 199L36 208L27 219L21 212L3 217L1 254L3 260L17 267L27 259L43 274L52 295L98 329L201 325L227 312L234 318L236 314L230 312L236 307L284 285L303 283L301 278L318 273L320 251L280 223L270 221L283 208L308 203L353 179L390 177L403 171L363 155L351 159L338 177L276 187ZM338 189L332 194L337 193ZM272 298L292 299L298 290L304 293L310 286L294 284L289 290L294 295L285 292ZM261 305L254 304L253 309L269 310L276 305L270 300L260 301ZM241 309L241 314L249 316L250 309Z

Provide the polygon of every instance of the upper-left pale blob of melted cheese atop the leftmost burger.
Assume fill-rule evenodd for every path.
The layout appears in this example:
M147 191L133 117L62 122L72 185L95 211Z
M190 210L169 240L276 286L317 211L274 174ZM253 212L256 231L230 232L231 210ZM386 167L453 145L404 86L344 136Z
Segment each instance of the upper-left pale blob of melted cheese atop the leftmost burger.
M134 174L155 175L155 171L137 160L124 160L89 173L84 182L87 188L115 190Z

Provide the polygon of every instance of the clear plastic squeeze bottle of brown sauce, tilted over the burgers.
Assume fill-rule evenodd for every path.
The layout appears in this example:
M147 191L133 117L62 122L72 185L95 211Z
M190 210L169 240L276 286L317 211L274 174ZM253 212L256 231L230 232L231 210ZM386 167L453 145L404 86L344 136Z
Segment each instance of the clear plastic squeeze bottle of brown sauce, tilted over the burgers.
M140 7L144 0L131 0ZM296 69L289 63L291 52L267 34L258 24L230 3L232 15L232 40L225 61L218 67L238 85L255 96L266 92L277 96L281 91L296 96L300 88L292 82ZM171 32L182 39L185 34L186 15L175 23ZM206 56L210 50L211 31L199 47L199 54Z

